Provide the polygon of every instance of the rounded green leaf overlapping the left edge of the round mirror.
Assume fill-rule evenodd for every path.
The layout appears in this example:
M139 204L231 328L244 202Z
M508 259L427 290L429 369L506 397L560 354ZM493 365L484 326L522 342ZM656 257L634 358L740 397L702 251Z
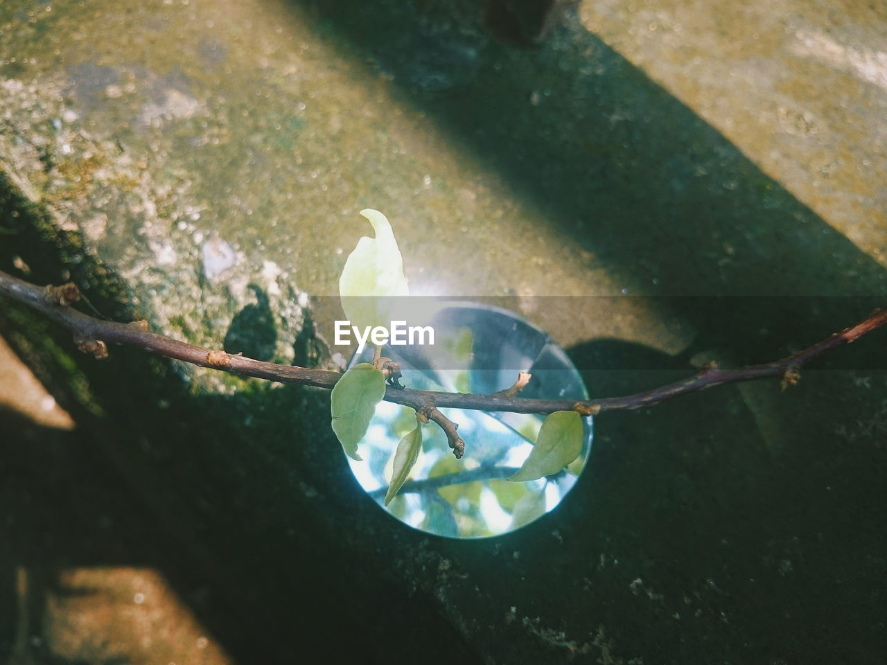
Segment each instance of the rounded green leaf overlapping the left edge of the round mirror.
M333 387L330 395L333 431L349 458L360 461L357 443L364 438L376 404L384 396L385 376L369 363L356 364Z

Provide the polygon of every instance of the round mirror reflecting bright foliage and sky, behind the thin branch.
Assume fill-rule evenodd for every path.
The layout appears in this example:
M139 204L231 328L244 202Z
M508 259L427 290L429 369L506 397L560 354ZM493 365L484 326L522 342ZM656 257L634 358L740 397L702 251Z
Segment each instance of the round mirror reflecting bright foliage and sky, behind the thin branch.
M491 393L511 386L518 371L533 378L523 397L587 399L585 385L561 348L520 317L489 305L445 304L432 325L436 343L386 347L401 363L404 385L422 390ZM366 348L351 365L372 362ZM538 481L510 482L530 455L542 415L441 409L459 425L465 456L456 459L440 427L423 426L422 450L409 479L383 505L397 442L416 426L412 409L381 402L351 471L384 510L413 528L452 538L500 536L537 520L576 483L591 451L592 421L584 419L582 452L567 468Z

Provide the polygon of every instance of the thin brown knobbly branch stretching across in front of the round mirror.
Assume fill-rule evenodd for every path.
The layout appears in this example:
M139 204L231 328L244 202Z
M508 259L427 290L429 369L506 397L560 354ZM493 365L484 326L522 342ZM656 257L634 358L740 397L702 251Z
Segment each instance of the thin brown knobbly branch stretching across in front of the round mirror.
M62 289L63 291L59 291ZM78 346L90 353L102 355L106 353L99 342L129 344L159 356L176 358L186 363L210 367L223 372L232 372L241 376L268 379L280 383L295 383L302 386L322 388L334 387L341 378L339 372L312 370L294 365L263 363L244 356L235 356L222 350L200 348L192 344L172 340L169 337L148 332L144 321L132 324L119 324L102 321L68 307L75 301L71 287L40 288L27 282L0 272L0 294L13 300L23 302L51 318L68 330L75 333ZM60 296L59 293L64 293ZM576 402L572 400L525 399L511 394L514 386L492 395L469 395L464 393L443 393L428 390L412 390L409 388L386 387L385 399L389 402L410 406L417 412L424 413L434 419L447 432L454 452L464 447L464 442L456 434L455 424L446 419L438 408L468 409L474 411L511 411L515 413L552 413L553 411L578 411L586 416L593 416L604 411L624 411L640 409L661 403L678 395L686 395L695 390L730 383L751 381L756 379L781 379L783 386L797 381L798 368L828 351L858 340L862 335L871 332L881 325L887 324L887 309L875 310L860 323L837 332L818 344L806 348L794 356L788 356L773 363L750 365L736 370L721 370L708 366L701 372L687 379L681 379L667 386L657 387L636 395L624 397L606 397L603 399ZM528 379L529 380L529 379ZM520 382L520 379L519 381ZM515 384L517 385L517 384ZM514 393L516 394L516 390ZM435 418L436 414L440 419ZM449 423L449 425L447 425ZM451 426L451 431L448 430ZM458 456L458 455L457 455Z

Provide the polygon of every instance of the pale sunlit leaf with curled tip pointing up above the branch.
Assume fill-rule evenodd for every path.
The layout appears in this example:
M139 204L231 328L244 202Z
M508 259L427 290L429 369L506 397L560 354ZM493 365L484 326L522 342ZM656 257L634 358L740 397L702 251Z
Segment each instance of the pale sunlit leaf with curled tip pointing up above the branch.
M351 325L361 329L391 325L392 302L386 298L410 294L404 277L404 259L397 248L394 231L385 215L366 208L360 211L376 232L376 237L361 238L349 254L339 278L341 307Z

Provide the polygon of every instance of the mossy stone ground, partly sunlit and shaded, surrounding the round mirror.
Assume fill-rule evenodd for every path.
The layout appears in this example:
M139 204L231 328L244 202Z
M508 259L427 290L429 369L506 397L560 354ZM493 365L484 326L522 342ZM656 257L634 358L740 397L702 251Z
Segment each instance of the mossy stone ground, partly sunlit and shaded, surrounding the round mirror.
M306 321L377 207L412 293L500 298L593 395L883 305L881 4L522 5L6 0L0 270L335 366ZM0 661L885 662L884 332L602 417L557 511L456 542L363 495L318 391L0 331Z

